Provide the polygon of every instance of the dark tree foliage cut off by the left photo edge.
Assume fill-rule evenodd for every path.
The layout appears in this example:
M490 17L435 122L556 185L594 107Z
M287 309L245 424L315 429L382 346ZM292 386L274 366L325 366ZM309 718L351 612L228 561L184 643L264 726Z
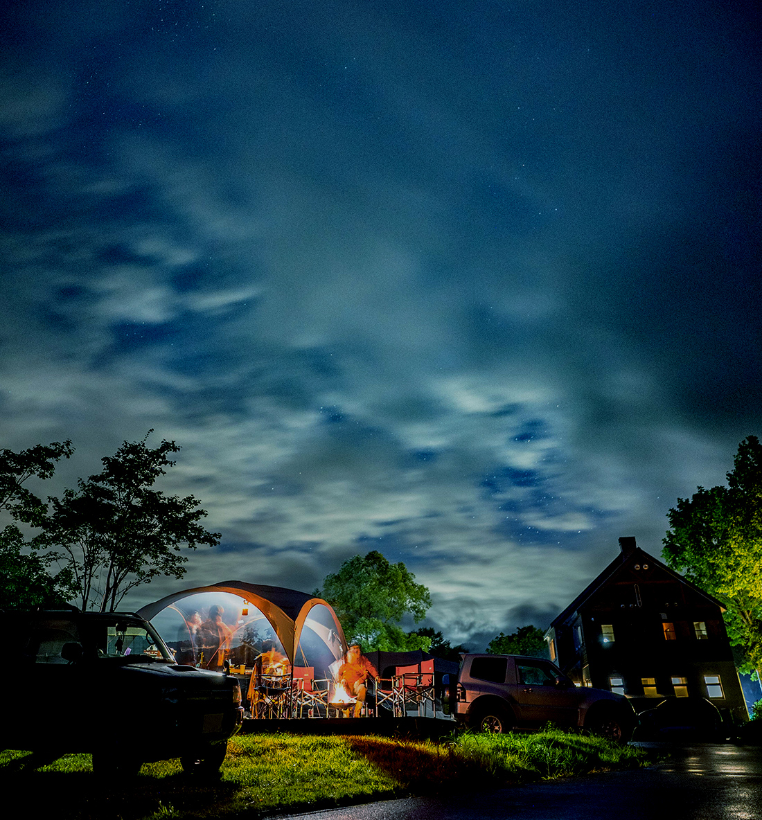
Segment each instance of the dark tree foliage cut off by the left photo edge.
M72 452L71 441L37 444L19 453L0 450L0 511L18 522L39 526L47 506L24 484L33 476L50 478L56 462ZM66 571L52 576L48 567L55 556L41 556L38 549L38 540L25 540L15 524L0 531L0 608L58 606L70 597L71 576Z

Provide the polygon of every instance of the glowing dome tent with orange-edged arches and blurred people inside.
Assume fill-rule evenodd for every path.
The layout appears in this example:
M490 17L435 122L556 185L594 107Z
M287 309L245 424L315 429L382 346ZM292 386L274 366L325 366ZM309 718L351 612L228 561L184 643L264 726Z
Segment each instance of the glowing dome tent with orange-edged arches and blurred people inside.
M329 604L280 586L221 581L167 595L139 614L156 626L179 663L220 669L251 667L271 641L294 667L328 676L346 650L344 631ZM210 640L210 632L226 640ZM221 646L224 644L224 649Z

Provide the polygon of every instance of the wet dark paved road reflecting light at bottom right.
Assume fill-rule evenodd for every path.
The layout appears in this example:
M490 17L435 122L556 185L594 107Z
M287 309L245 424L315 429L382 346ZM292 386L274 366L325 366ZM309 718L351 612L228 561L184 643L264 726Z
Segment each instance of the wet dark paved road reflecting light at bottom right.
M310 820L762 820L762 748L696 745L668 763L489 793L385 800ZM282 818L288 820L288 818Z

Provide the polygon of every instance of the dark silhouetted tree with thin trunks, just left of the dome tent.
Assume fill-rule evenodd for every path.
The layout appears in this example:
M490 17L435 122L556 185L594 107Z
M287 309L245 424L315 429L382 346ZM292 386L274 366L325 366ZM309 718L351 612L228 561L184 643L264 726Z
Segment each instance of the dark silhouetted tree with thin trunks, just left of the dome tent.
M113 610L137 585L161 575L180 578L188 560L181 549L218 543L219 533L198 523L207 514L198 499L153 490L175 464L168 454L180 448L166 440L149 448L151 432L103 458L103 471L80 479L78 490L49 499L52 513L40 540L62 550L82 609Z

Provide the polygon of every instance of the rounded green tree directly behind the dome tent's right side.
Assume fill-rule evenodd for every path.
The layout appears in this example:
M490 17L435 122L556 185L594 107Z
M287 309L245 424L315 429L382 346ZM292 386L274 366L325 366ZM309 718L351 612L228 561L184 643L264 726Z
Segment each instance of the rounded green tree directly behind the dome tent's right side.
M418 623L431 606L429 590L402 562L389 563L375 550L364 558L355 555L325 577L317 594L334 608L347 640L367 651L427 650L431 645L431 638L399 626L408 614Z

